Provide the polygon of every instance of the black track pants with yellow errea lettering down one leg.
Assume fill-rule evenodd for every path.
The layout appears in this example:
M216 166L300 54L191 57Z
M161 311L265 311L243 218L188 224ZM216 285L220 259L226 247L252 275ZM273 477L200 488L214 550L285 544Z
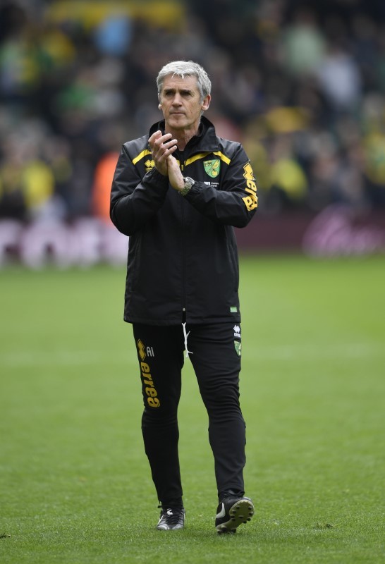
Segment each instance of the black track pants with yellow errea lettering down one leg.
M244 494L245 421L239 405L240 326L187 325L188 350L209 415L218 496ZM185 341L183 326L133 324L145 410L142 434L162 505L181 503L178 402Z

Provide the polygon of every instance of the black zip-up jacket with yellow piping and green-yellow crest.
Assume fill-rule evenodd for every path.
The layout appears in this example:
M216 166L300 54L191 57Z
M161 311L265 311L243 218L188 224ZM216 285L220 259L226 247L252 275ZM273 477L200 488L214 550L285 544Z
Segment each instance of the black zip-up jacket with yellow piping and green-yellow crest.
M164 130L152 126L149 135ZM149 135L126 142L111 190L111 220L129 235L124 319L150 325L239 322L238 252L233 226L257 207L255 178L243 147L200 133L174 153L195 180L185 197L154 167Z

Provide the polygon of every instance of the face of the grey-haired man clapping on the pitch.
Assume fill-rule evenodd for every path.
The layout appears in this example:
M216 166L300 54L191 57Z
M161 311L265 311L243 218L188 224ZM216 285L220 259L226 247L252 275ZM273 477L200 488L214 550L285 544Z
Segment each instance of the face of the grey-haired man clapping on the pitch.
M202 111L207 110L210 96L202 101L195 76L166 76L160 93L161 110L166 129L197 130Z

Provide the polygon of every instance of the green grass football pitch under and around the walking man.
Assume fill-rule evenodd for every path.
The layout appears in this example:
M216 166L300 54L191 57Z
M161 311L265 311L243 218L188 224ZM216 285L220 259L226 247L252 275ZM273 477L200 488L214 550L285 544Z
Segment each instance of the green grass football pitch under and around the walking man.
M188 361L187 526L154 529L124 270L0 272L1 564L384 562L384 258L243 256L240 272L256 513L231 536Z

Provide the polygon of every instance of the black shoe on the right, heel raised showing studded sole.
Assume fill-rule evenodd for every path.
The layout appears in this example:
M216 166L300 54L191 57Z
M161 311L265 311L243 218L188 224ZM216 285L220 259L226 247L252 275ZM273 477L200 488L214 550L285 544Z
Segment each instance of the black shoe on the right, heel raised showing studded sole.
M250 498L224 498L216 510L215 527L221 533L235 533L237 527L250 521L254 505Z

